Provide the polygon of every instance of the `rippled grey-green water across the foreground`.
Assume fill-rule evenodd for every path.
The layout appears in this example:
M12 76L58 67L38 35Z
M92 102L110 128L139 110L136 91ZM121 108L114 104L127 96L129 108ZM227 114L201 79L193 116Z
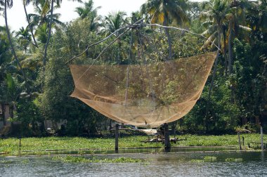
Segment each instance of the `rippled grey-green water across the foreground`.
M110 159L131 157L145 159L148 163L86 164L58 162L50 156L0 157L0 176L267 176L267 152L157 152L94 156ZM90 158L91 155L83 157Z

